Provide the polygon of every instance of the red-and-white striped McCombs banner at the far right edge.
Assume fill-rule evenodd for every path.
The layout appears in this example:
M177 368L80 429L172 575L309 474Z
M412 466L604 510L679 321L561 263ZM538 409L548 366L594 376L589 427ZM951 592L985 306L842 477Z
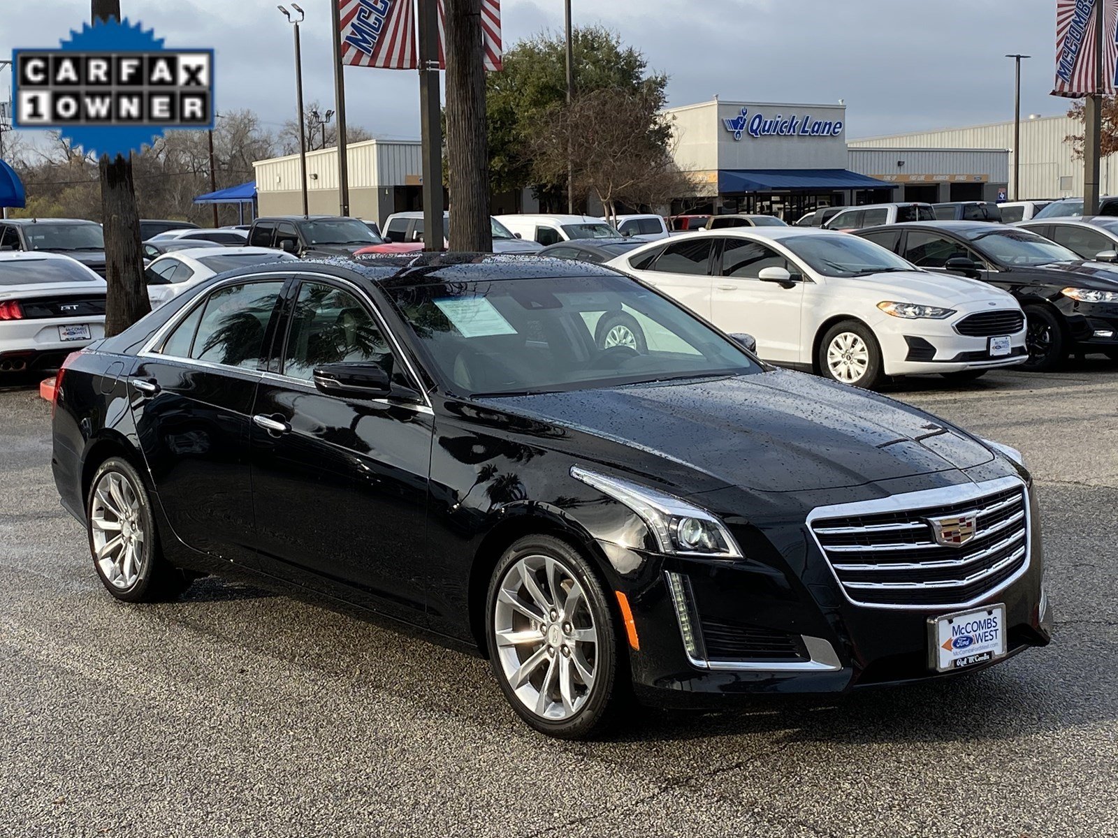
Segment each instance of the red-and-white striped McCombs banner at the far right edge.
M1095 89L1095 32L1098 8L1105 10L1102 32L1102 89L1115 92L1115 65L1118 59L1118 0L1057 0L1055 4L1055 86L1053 96L1080 98Z

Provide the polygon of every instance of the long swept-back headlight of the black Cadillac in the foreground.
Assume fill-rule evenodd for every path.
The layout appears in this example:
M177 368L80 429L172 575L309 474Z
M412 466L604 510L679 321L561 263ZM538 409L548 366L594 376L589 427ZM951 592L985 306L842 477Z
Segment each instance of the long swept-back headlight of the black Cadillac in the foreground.
M726 524L700 506L579 466L571 466L570 476L633 510L648 526L662 553L711 559L741 558L741 549Z

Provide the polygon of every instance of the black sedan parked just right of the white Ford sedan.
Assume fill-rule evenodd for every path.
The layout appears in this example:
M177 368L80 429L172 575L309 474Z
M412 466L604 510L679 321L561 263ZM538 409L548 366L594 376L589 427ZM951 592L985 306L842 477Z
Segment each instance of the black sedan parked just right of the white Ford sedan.
M917 267L982 279L1013 294L1029 320L1023 369L1051 370L1069 352L1118 359L1118 268L1083 261L1020 227L982 221L869 227L854 235Z

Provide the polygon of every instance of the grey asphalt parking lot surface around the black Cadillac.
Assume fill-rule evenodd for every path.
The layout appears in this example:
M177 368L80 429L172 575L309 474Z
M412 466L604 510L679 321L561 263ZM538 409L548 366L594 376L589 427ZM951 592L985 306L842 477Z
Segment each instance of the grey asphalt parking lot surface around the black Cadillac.
M112 600L58 505L49 406L4 389L0 834L1118 835L1118 364L891 394L1024 451L1055 642L571 744L484 661L313 604L209 579Z

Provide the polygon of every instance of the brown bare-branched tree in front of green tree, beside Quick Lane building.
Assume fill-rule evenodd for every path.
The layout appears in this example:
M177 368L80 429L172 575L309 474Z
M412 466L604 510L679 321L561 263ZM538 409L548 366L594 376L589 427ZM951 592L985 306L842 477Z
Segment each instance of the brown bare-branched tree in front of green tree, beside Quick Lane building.
M653 96L616 87L594 91L547 112L532 147L536 173L541 181L558 182L570 149L575 190L597 196L610 219L620 202L656 208L695 191L672 159L670 135Z

